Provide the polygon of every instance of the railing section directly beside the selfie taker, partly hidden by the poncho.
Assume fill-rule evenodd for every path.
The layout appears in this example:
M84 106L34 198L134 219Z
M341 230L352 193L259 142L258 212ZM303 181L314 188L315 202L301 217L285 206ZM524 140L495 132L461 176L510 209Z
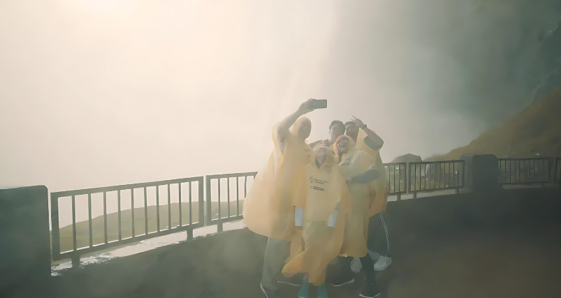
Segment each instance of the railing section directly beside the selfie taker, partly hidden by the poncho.
M236 221L238 219L243 218L243 212L240 212L240 178L243 178L243 188L244 194L243 199L247 195L247 177L255 176L257 172L247 172L247 173L235 173L235 174L218 174L218 175L210 175L206 177L206 208L207 208L207 218L206 218L206 225L214 225L217 224L217 231L222 232L223 227L222 224L228 221ZM231 182L235 178L235 215L231 213ZM222 198L224 198L223 189L222 187L224 184L221 184L221 181L226 179L226 207L222 207ZM217 208L212 208L212 181L217 181ZM243 208L243 206L242 206ZM226 214L223 213L223 211Z

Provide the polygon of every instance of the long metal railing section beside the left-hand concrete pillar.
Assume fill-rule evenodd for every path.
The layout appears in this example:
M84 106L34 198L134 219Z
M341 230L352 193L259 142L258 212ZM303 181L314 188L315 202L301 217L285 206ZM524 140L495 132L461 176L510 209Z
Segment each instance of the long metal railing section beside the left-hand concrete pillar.
M193 198L191 195L191 184L197 182L198 184L198 222L194 222L193 218ZM177 184L178 189L178 209L179 209L179 223L177 226L172 227L172 212L171 212L171 202L170 202L170 186ZM182 204L184 204L184 200L182 200L182 184L188 184L189 186L189 218L183 218L182 216ZM160 228L160 198L159 198L159 190L160 186L167 186L168 195L167 195L167 217L168 217L168 226L164 229ZM155 188L156 190L156 227L154 232L150 232L149 230L149 221L153 223L153 219L148 218L148 209L152 207L147 204L147 188ZM143 204L143 217L144 217L144 225L143 227L136 227L135 226L135 206L134 206L134 190L140 189L140 191L144 191L144 204ZM131 192L131 209L121 210L121 194L122 191L130 191ZM116 240L109 241L108 239L108 213L107 213L107 194L116 192L117 193L117 235L112 235L112 237L117 237ZM94 243L94 236L93 236L93 225L92 222L92 195L103 193L103 239L101 243ZM77 223L76 223L76 196L79 195L87 195L87 234L89 238L87 239L87 243L85 246L80 246L78 244L77 238ZM100 251L105 248L110 248L112 246L127 244L133 241L141 241L143 239L148 239L152 237L158 237L164 234L170 234L173 232L179 232L182 230L187 230L187 238L193 237L193 229L203 226L203 217L204 217L204 205L203 205L203 177L192 177L192 178L185 178L185 179L173 179L173 180L165 180L165 181L156 181L156 182L149 182L149 183L140 183L140 184L127 184L127 185L120 185L120 186L109 186L109 187L101 187L101 188L88 188L88 189L81 189L77 191L61 191L57 193L51 193L50 195L51 201L51 223L52 223L52 258L53 260L61 260L63 258L72 258L73 264L79 263L80 255L85 253L90 253L93 251ZM186 195L184 195L185 197ZM59 228L59 198L70 197L71 198L71 209L72 209L72 245L69 251L61 252L61 237L60 237L60 228ZM101 198L100 198L101 199ZM140 209L137 208L137 209ZM126 211L126 215L130 213L131 216L131 236L130 237L122 237L122 212ZM164 213L165 214L165 213ZM140 217L140 216L139 216ZM94 218L95 220L96 218ZM112 220L115 218L111 218ZM99 223L99 221L96 221ZM188 224L184 224L188 223ZM80 227L82 227L82 222L79 222ZM127 229L129 227L126 227ZM135 229L137 228L137 229ZM139 228L143 228L144 232L138 234L138 230L142 230ZM113 232L113 231L112 231ZM80 234L82 236L82 234ZM80 239L83 240L83 239ZM82 241L83 242L83 241ZM67 244L66 246L70 246ZM65 247L66 248L66 247Z

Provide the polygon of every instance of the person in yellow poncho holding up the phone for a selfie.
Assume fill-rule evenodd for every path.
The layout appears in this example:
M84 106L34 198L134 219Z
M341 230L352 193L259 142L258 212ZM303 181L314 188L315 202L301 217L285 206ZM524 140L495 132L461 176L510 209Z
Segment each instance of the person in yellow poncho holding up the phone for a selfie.
M290 244L296 237L294 202L307 195L306 165L312 149L306 139L312 129L302 117L313 110L313 100L302 103L298 110L272 129L275 145L265 168L258 172L244 202L244 223L249 230L269 237L265 248L261 290L268 298L279 297L277 283L301 285L298 276L281 274L289 258Z

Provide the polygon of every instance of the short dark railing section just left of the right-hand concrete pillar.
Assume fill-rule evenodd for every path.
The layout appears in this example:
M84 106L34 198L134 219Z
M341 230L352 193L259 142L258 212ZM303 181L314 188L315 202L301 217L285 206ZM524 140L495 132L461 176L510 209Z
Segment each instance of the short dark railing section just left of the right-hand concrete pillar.
M464 161L428 161L409 163L409 192L439 191L464 187Z

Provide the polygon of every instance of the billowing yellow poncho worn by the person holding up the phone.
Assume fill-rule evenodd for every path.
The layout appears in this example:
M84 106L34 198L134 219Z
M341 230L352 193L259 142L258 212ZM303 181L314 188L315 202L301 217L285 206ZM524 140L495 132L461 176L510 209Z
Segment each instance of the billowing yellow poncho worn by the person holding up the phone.
M294 201L306 196L306 165L312 149L299 137L298 129L305 117L291 126L283 143L272 128L275 148L265 168L257 173L243 206L244 223L249 230L263 236L292 241L295 235Z

